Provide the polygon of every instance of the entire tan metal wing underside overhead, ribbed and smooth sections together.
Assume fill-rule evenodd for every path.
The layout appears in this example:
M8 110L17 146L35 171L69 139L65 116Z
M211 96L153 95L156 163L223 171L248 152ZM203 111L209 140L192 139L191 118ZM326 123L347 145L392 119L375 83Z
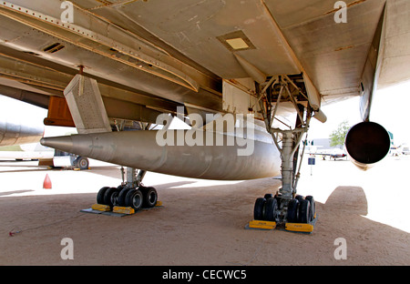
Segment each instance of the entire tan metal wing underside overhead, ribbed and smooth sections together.
M81 68L108 117L152 120L231 111L224 83L249 77L299 75L315 108L410 78L408 1L345 4L336 23L333 0L2 2L0 91L47 106Z

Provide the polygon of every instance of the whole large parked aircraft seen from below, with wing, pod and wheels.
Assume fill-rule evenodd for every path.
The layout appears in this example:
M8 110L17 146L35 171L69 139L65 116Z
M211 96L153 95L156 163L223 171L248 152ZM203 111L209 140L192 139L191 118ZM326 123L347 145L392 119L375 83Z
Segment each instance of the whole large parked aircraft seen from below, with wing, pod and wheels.
M360 96L363 122L346 137L349 157L365 170L387 155L389 135L370 111L378 87L410 78L409 18L408 0L1 1L0 92L47 107L46 125L77 127L77 136L43 145L128 167L128 180L101 188L97 201L152 204L155 191L141 184L147 170L282 174L276 198L258 198L254 213L306 220L313 202L294 198L296 170L311 118L326 121L323 105ZM196 124L117 131L122 121L164 125L161 114ZM225 115L234 129L212 129ZM244 115L254 118L249 127L236 123ZM158 133L176 144L159 143ZM235 141L191 143L212 135ZM238 155L251 144L251 155Z

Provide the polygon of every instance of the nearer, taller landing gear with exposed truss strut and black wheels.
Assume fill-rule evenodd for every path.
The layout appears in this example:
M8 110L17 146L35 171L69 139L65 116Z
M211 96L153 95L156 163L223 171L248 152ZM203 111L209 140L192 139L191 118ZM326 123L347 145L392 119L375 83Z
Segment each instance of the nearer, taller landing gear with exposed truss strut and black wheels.
M300 81L296 77L276 76L272 77L266 86L260 87L259 102L265 126L281 153L282 187L275 194L266 194L263 198L256 199L253 218L276 222L277 226L286 223L308 224L315 218L313 197L304 198L296 195L305 143L303 143L301 155L299 154L299 146L302 137L305 134L307 137L310 119L313 116L309 99L304 95L304 84L299 84ZM286 126L284 130L272 127L275 115L282 104L288 106L292 104L296 109L296 125L293 129L289 126ZM282 121L280 122L283 124Z

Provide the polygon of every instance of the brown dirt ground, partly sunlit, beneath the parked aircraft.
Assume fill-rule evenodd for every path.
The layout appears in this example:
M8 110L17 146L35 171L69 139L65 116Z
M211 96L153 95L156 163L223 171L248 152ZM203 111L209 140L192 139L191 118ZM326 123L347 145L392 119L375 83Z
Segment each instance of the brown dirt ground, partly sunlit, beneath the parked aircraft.
M96 202L99 188L118 186L118 167L0 162L0 265L410 265L410 158L388 157L367 172L346 160L305 162L299 193L316 199L312 234L245 229L255 199L279 187L272 178L148 173L144 184L157 188L163 207L110 217L80 209ZM46 174L52 189L43 189ZM72 260L61 258L63 238L73 240ZM337 238L346 259L335 259Z

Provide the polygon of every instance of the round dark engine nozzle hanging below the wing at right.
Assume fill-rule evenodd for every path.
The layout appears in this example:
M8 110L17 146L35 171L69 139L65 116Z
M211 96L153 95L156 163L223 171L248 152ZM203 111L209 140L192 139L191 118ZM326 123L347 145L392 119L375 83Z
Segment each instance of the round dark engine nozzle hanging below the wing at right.
M390 135L381 125L361 122L347 132L344 145L355 166L366 170L390 151Z

